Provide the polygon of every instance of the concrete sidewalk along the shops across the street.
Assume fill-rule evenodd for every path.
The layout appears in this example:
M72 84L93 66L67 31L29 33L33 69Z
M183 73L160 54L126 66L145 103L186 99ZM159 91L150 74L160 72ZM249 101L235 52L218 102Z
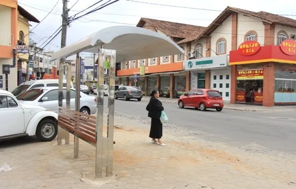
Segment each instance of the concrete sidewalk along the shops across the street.
M143 96L142 100L149 100L149 96ZM178 99L174 98L164 98L160 97L162 102L171 102L178 103ZM224 109L231 110L240 110L240 111L250 111L250 112L291 112L296 111L296 106L274 106L274 107L265 107L265 106L256 106L256 105L244 105L244 104L224 104Z

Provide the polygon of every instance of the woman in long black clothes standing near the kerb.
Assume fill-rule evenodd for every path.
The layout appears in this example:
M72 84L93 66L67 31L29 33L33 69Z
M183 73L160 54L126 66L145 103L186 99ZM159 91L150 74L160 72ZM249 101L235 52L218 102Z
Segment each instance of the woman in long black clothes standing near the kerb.
M151 117L151 127L149 137L152 138L153 143L158 143L161 146L166 146L161 140L163 136L163 124L160 121L161 111L164 110L163 104L158 100L159 92L152 91L151 98L146 107L149 112L148 117ZM157 139L157 140L156 140Z

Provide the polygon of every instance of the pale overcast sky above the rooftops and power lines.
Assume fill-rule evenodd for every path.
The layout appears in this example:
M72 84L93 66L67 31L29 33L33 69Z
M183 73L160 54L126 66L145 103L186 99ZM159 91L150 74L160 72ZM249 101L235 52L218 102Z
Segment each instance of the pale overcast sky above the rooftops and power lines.
M68 8L71 8L77 0L69 0ZM73 16L79 11L94 4L98 0L78 0L70 10L69 16ZM103 0L98 5L108 0ZM103 8L95 13L87 15L79 20L75 20L68 27L67 42L71 44L76 40L84 38L96 31L114 25L131 25L135 26L141 17L151 19L161 19L166 21L180 22L199 26L208 26L222 10L227 6L242 8L250 11L266 11L279 15L296 15L296 0L136 0L149 3L158 3L174 6L192 7L168 7L162 5L146 4L120 0ZM53 9L55 4L56 7ZM30 35L38 46L41 45L47 37L51 36L61 25L62 0L19 0L19 5L34 15L37 19L42 20L49 14ZM94 6L92 8L95 8ZM92 10L89 9L89 10ZM198 9L195 9L198 8ZM200 10L210 9L210 10ZM116 14L116 15L114 15ZM287 16L296 19L296 16ZM93 21L96 20L96 21ZM101 20L101 21L98 21ZM103 22L104 21L104 22ZM112 23L117 22L117 23ZM31 29L37 24L31 22ZM46 51L58 50L60 48L61 35L53 40L47 47ZM45 43L46 44L46 43Z

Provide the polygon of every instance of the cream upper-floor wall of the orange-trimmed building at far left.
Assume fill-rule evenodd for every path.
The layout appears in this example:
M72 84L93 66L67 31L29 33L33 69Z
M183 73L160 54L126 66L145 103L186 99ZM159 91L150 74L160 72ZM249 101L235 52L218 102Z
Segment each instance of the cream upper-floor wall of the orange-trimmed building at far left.
M0 5L0 45L11 43L11 8ZM17 36L14 36L17 38Z

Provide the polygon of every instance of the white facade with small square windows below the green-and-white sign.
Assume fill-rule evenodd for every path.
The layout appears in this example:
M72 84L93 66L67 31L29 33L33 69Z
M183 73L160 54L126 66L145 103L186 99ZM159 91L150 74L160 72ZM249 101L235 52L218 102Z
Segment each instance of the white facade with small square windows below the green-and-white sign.
M222 92L223 100L230 101L230 87L231 87L231 71L228 68L225 69L213 69L211 70L211 86L210 88L213 90L218 90ZM223 76L223 79L220 79L220 75ZM226 75L229 75L229 79L226 79ZM217 76L217 79L214 80L214 76ZM214 83L216 84L216 88L214 88ZM229 84L229 88L226 88L226 83ZM222 88L220 88L220 84L222 84ZM226 97L226 92L229 93L229 96Z

